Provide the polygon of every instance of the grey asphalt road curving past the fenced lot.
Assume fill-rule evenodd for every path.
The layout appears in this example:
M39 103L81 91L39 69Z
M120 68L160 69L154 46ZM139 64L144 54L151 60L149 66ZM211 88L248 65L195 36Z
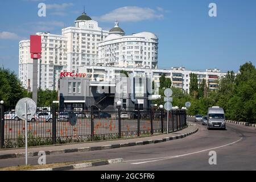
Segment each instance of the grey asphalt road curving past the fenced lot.
M123 158L125 163L79 170L256 170L256 130L227 123L227 130L199 126L189 137L169 142L47 156L47 163ZM210 165L209 151L216 151L217 165ZM30 157L36 164L38 157ZM24 158L0 160L0 167L24 164Z

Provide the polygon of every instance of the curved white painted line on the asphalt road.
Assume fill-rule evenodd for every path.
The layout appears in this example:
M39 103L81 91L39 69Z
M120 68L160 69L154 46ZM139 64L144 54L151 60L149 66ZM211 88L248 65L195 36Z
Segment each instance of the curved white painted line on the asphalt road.
M157 162L157 161L160 161L160 160L167 160L167 159L180 158L180 157L182 157L182 156L187 156L187 155L192 155L192 154L198 154L198 153L200 153L200 152L205 152L205 151L214 150L214 149L217 149L217 148L222 148L222 147L230 146L230 145L232 145L232 144L235 144L235 143L237 143L237 142L240 142L242 139L243 139L243 138L240 138L240 139L237 140L236 142L228 143L228 144L225 144L225 145L223 145L223 146L218 146L218 147L214 147L214 148L208 148L208 149L205 149L205 150L201 150L201 151L197 151L197 152L191 152L191 153L183 154L183 155L166 156L166 157L162 157L162 158L151 158L151 159L126 160L126 161L124 161L124 162L135 162L135 161L147 160L147 161L144 161L144 162L131 163L131 164L144 164L144 163Z

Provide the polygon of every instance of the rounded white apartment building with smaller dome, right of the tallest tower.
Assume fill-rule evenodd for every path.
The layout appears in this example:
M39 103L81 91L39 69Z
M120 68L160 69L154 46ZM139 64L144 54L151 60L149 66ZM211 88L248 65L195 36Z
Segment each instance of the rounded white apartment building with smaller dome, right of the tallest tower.
M109 35L98 43L97 65L156 69L158 37L151 32L125 36L125 31L115 22Z

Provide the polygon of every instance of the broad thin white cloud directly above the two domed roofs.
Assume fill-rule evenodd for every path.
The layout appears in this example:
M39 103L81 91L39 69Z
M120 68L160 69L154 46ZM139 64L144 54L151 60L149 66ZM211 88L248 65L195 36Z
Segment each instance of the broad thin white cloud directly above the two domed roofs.
M158 14L155 10L147 7L142 8L138 6L120 7L108 14L94 17L94 19L101 22L113 22L114 20L118 20L119 22L139 22L142 20L161 18L163 18L163 14Z

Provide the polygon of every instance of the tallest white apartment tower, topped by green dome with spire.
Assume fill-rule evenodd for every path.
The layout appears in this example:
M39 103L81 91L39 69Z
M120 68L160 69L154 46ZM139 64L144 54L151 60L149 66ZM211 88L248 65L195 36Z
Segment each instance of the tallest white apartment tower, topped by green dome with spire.
M80 66L95 65L98 59L97 44L108 36L108 32L98 27L98 22L85 13L75 20L75 27L63 28L62 35L68 39L68 71L77 72Z

